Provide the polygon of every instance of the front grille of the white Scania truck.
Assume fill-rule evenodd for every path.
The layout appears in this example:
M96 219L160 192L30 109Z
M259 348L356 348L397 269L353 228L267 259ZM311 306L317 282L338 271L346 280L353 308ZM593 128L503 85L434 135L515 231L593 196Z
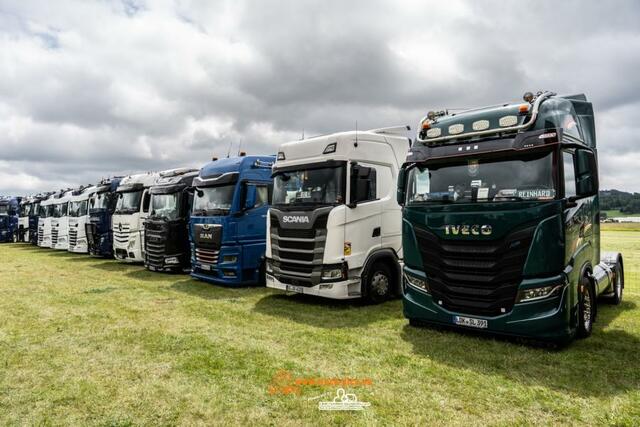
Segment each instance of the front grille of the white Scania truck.
M271 256L278 280L299 286L320 282L328 217L328 213L320 215L310 228L300 229L283 228L271 214Z

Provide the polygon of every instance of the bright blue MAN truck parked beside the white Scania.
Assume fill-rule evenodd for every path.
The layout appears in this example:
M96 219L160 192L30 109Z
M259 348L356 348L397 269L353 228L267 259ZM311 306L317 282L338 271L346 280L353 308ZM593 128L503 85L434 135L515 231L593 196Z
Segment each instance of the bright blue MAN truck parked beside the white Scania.
M264 283L266 217L275 156L215 160L194 179L191 276L240 286Z

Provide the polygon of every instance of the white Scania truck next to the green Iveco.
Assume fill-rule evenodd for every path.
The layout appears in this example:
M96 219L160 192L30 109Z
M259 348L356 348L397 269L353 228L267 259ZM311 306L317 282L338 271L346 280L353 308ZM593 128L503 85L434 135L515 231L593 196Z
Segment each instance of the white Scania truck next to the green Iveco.
M399 294L398 171L408 126L280 146L267 219L270 288L377 303Z

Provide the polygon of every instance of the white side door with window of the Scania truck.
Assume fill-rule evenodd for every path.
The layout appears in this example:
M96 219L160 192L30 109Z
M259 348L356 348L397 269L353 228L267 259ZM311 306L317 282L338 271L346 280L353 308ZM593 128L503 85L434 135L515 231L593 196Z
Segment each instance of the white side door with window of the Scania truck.
M352 162L345 224L345 258L349 268L362 267L367 254L382 243L382 204L376 166ZM348 255L349 248L351 255Z

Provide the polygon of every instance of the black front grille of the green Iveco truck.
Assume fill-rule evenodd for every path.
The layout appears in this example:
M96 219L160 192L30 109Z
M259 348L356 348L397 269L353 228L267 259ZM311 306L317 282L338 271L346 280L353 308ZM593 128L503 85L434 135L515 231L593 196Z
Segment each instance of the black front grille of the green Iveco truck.
M535 228L519 228L499 240L445 240L414 227L434 302L457 313L510 312Z

